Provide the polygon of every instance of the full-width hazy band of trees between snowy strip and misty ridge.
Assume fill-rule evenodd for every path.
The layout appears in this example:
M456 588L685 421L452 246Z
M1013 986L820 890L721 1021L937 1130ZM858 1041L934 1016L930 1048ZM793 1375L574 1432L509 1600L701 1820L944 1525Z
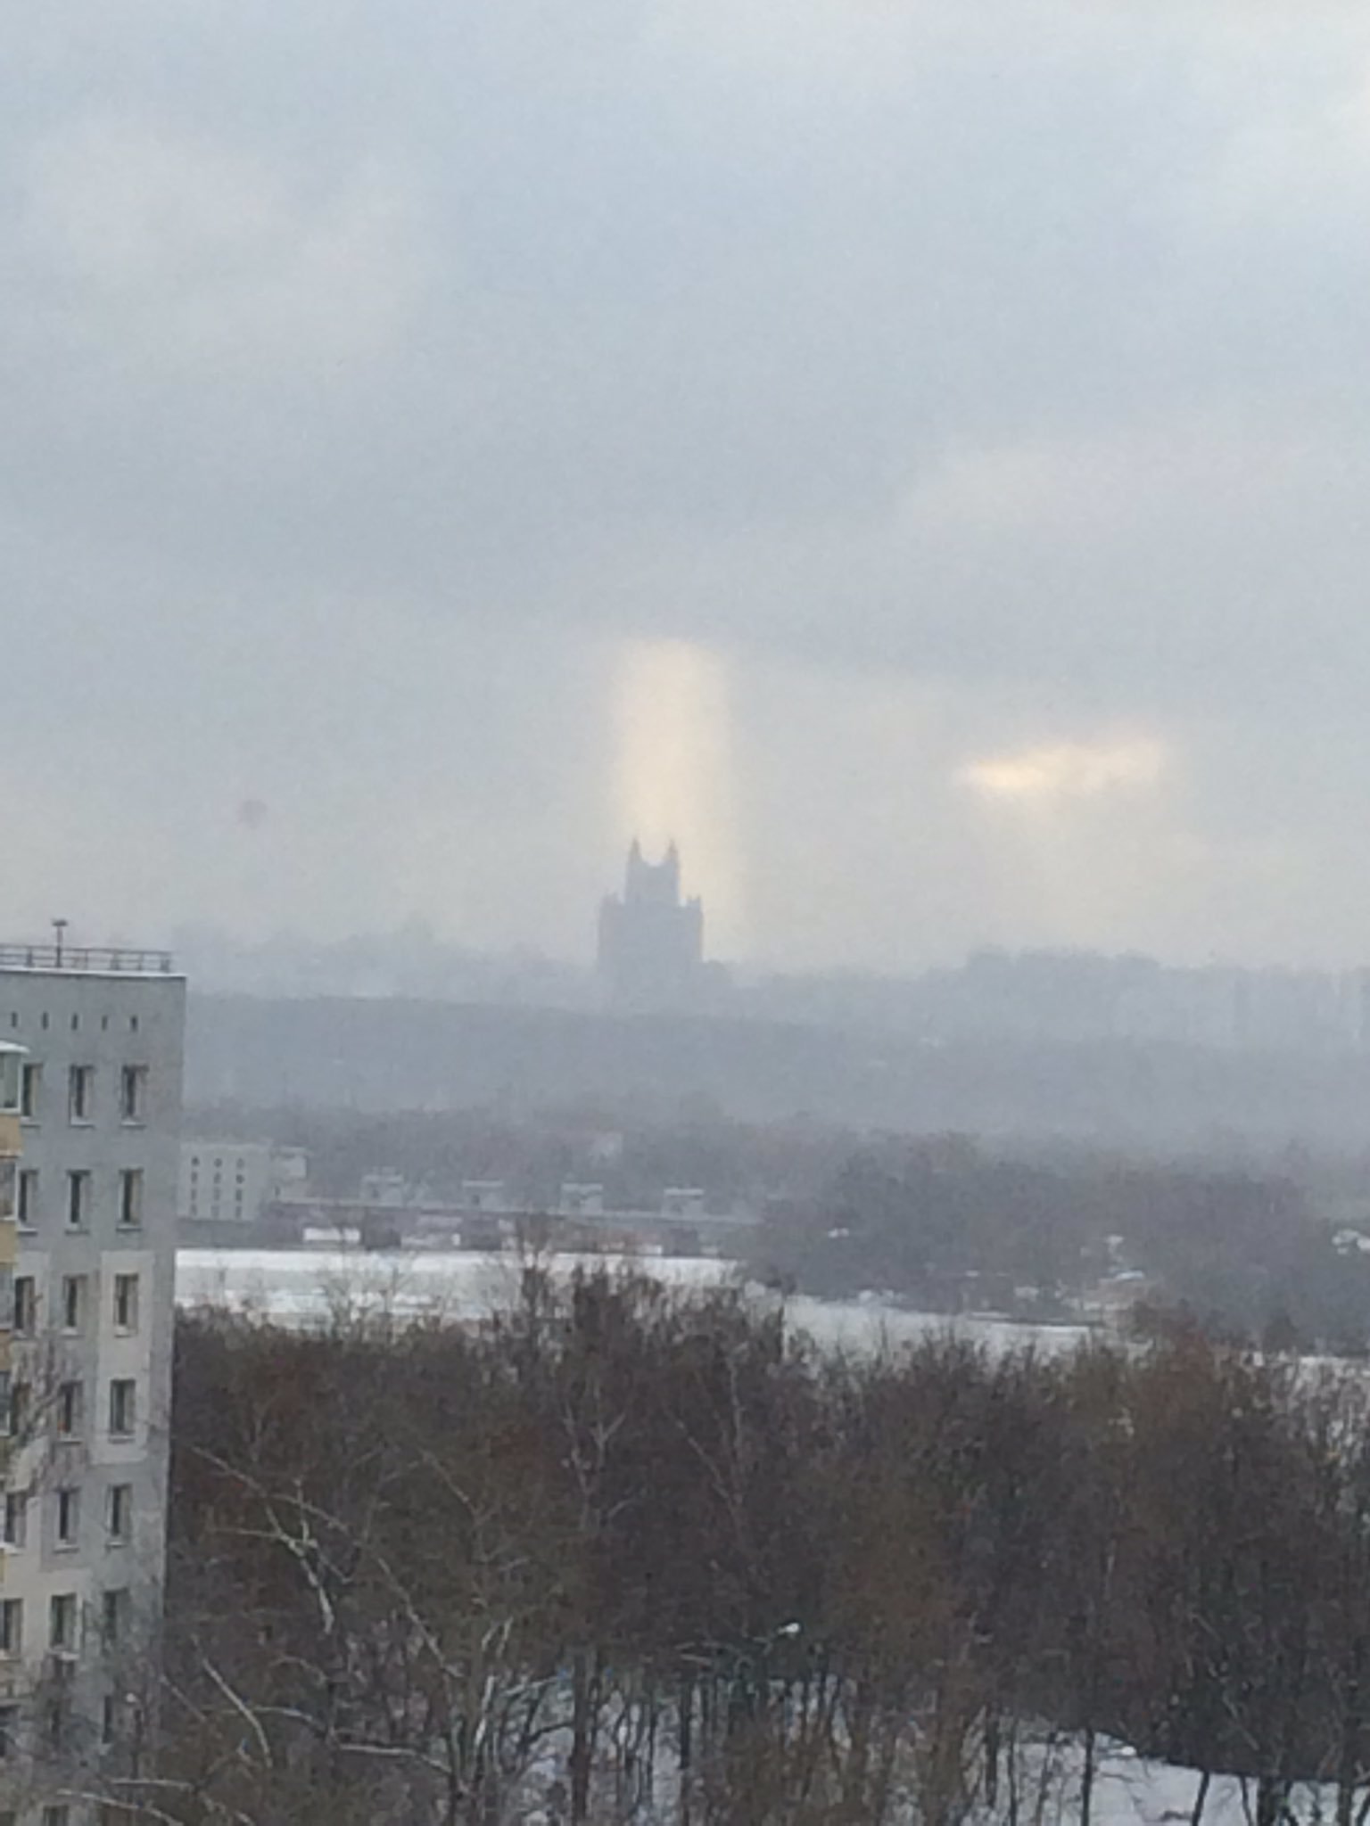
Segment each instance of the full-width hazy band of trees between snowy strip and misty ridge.
M395 1238L424 1202L460 1205L468 1181L497 1181L511 1209L546 1216L563 1247L594 1242L557 1231L566 1183L594 1183L610 1234L616 1212L650 1212L663 1187L698 1187L709 1212L754 1220L725 1247L756 1280L824 1298L1030 1320L1142 1304L1228 1337L1350 1355L1370 1346L1363 1150L1228 1138L1167 1156L1041 1136L749 1123L707 1103L674 1116L606 1101L532 1114L208 1105L192 1121L305 1149L325 1198L354 1200L365 1176L391 1176L413 1205L374 1212L376 1234ZM232 1225L214 1240L232 1240ZM698 1249L701 1236L681 1231L672 1247Z

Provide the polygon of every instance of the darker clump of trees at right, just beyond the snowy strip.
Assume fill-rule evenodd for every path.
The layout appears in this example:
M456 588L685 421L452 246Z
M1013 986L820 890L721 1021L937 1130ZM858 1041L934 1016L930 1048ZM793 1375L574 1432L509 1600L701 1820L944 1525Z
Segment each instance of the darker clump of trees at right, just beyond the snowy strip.
M1067 1317L1112 1291L1259 1342L1344 1355L1370 1342L1370 1254L1270 1167L868 1139L817 1196L771 1212L753 1267L928 1311Z

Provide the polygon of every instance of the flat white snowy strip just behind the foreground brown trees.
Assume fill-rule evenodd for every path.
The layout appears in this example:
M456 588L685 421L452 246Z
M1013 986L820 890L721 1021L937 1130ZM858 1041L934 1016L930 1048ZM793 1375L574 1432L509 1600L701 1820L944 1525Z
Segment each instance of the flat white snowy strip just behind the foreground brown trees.
M610 1264L614 1258L594 1256ZM553 1256L568 1273L574 1256ZM632 1265L678 1287L729 1282L731 1262L634 1256ZM362 1249L181 1249L175 1296L181 1306L225 1306L283 1324L325 1324L340 1313L482 1318L515 1298L519 1262L510 1254L429 1251L369 1254ZM758 1289L758 1300L775 1298ZM997 1349L1034 1344L1061 1349L1085 1337L1078 1326L1016 1326L994 1318L946 1318L860 1300L793 1298L791 1322L818 1342L857 1349L906 1344L954 1331Z

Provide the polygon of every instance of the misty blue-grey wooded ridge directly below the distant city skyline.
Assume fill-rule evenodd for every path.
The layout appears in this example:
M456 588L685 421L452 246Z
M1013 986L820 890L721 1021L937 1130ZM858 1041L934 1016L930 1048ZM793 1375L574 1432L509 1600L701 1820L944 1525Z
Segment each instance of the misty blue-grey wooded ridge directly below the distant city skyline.
M888 992L890 999L893 990ZM1074 1136L1195 1149L1228 1138L1370 1145L1370 1057L1350 1046L950 1034L837 1019L502 1006L389 997L192 997L186 1092L307 1108L437 1110L683 1103L745 1121L807 1116L913 1132Z

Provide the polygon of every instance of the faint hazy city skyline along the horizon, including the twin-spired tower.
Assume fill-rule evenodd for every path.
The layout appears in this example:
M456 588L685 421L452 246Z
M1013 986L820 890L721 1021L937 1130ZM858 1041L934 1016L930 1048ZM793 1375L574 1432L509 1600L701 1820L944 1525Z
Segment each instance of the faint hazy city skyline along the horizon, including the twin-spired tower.
M278 935L236 946L205 931L183 939L206 993L716 1015L933 1037L1370 1048L1370 966L1189 966L1143 953L981 948L906 975L785 973L711 960L703 933L703 906L681 897L674 847L652 860L634 844L623 891L601 900L592 960L448 946L422 924L340 944Z

